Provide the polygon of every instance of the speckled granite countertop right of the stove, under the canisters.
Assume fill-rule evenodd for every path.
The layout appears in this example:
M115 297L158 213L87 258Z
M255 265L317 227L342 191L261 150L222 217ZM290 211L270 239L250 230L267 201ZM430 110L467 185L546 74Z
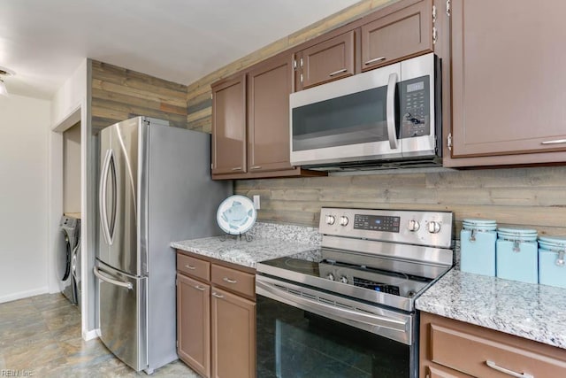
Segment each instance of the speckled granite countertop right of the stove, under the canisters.
M566 349L566 289L453 268L417 309Z

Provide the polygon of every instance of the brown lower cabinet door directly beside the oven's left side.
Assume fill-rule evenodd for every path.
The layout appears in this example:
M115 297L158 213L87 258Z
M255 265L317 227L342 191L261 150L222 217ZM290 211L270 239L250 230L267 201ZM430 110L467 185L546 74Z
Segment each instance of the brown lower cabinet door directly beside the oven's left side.
M256 376L256 304L212 289L212 376Z

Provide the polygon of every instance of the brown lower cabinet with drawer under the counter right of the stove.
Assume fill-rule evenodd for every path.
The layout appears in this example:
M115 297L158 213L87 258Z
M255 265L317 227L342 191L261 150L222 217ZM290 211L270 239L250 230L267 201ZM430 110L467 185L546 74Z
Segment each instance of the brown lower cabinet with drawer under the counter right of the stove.
M420 377L563 377L566 350L421 313Z

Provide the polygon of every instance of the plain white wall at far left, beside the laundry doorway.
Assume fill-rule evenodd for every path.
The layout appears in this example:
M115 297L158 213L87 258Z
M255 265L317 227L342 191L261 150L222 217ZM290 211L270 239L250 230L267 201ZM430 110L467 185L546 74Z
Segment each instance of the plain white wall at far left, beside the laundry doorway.
M0 96L0 303L48 291L50 102Z

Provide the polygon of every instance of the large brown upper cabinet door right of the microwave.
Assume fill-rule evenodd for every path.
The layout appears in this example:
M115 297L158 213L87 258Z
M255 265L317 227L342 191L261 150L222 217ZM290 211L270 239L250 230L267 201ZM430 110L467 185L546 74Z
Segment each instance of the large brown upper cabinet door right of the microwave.
M566 151L564 14L563 0L452 0L453 158Z

